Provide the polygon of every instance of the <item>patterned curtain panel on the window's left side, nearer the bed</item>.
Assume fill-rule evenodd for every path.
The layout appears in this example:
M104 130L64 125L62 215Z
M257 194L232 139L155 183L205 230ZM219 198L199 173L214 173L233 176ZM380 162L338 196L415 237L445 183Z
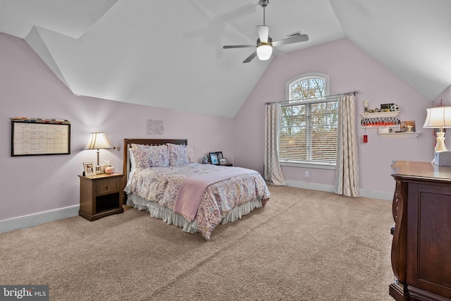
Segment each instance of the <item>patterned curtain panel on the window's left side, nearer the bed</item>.
M287 185L279 163L279 128L280 104L266 104L264 178L271 185Z

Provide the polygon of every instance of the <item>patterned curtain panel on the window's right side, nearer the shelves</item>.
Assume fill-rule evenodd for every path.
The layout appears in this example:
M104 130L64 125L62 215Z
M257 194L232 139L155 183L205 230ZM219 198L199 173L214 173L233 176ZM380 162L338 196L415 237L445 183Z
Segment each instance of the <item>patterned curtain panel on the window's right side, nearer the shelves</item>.
M354 98L354 94L344 94L338 99L335 193L347 197L359 197L359 166L357 160Z

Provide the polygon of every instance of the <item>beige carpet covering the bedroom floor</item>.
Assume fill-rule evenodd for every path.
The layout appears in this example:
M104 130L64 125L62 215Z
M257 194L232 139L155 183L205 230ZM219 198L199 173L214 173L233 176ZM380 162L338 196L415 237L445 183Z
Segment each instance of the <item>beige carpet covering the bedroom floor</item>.
M126 210L0 234L0 284L50 300L393 300L391 203L299 188L210 240Z

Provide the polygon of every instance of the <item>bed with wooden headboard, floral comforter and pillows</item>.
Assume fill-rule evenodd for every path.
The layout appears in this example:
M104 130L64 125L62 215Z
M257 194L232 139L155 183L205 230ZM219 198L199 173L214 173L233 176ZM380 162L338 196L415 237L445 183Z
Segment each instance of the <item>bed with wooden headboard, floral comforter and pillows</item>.
M124 204L206 240L270 197L257 171L196 163L187 140L124 139L123 153Z

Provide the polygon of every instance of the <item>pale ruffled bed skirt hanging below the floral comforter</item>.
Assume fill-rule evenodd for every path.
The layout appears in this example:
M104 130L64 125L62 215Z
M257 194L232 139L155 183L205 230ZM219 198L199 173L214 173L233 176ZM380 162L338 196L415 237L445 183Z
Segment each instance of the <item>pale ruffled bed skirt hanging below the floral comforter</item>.
M188 221L180 214L175 214L171 209L163 207L156 202L149 202L147 199L143 199L137 195L128 195L127 205L135 207L139 210L147 210L149 211L150 216L155 217L156 219L162 219L165 223L168 223L168 225L182 227L183 231L187 233L199 232L195 220ZM242 216L249 214L249 212L255 208L261 207L263 207L261 206L261 199L254 199L251 202L247 202L228 211L228 213L221 219L221 223L231 223L237 219L241 219Z

